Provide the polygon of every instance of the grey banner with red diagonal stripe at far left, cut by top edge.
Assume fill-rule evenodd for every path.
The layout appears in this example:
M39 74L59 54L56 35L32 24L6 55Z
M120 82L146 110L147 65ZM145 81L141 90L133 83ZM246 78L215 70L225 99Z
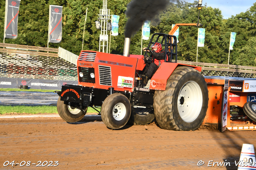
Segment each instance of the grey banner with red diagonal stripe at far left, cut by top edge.
M5 38L16 39L18 36L18 14L20 0L6 0Z

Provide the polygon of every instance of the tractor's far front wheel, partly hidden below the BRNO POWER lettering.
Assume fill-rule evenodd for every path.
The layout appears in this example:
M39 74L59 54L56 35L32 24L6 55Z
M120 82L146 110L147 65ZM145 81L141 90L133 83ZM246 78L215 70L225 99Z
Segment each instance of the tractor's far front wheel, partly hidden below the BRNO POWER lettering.
M80 109L77 109L76 107L71 107L70 103L68 105L64 104L64 101L61 101L60 97L58 98L58 102L57 102L57 110L60 117L67 122L80 121L86 113L86 112L84 113ZM87 107L86 107L86 111L87 111Z

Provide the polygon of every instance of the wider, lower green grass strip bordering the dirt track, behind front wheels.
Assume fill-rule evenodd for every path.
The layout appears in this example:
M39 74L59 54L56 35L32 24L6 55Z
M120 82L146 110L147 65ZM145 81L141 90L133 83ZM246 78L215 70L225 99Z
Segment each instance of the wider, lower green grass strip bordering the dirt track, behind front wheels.
M98 109L100 110L100 109ZM0 114L5 113L58 113L56 106L0 106ZM92 107L88 107L87 113L98 113Z

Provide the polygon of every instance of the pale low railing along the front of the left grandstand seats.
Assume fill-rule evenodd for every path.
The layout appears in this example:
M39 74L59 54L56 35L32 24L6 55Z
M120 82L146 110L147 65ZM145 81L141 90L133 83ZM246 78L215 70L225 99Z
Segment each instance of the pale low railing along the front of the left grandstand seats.
M0 73L0 77L4 77L4 78L41 79L41 80L66 80L66 81L78 81L78 77L71 77L71 76L48 76L48 75L32 75L32 74L8 74L8 73Z

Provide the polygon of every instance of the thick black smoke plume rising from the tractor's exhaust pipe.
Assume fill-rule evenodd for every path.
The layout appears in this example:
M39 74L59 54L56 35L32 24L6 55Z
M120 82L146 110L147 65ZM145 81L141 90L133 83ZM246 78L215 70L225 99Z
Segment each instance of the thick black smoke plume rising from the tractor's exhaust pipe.
M132 0L127 5L125 12L129 19L126 23L124 36L132 37L141 29L144 21L152 21L160 12L166 9L169 2L170 0Z

